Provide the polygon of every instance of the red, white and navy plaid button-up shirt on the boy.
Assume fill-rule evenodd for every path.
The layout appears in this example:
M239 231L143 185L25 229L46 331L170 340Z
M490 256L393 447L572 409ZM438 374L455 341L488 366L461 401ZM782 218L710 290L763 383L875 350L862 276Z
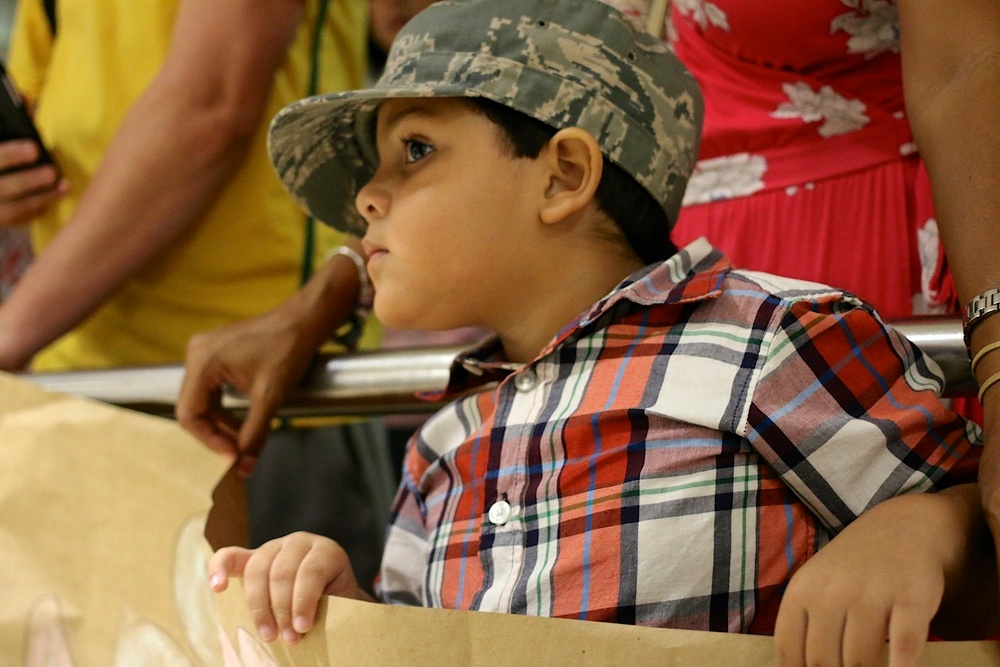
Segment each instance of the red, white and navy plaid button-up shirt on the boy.
M387 602L771 632L795 569L874 504L975 479L979 431L855 297L704 240L630 276L407 452Z

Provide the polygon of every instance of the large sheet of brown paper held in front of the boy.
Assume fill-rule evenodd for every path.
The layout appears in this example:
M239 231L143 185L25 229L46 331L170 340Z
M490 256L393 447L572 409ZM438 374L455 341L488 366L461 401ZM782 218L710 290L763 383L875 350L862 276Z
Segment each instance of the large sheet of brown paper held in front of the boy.
M171 421L0 374L0 666L775 664L768 637L333 598L298 645L265 644L241 582L205 578L226 468ZM216 497L245 512L239 480ZM1000 667L1000 646L934 643L923 665Z

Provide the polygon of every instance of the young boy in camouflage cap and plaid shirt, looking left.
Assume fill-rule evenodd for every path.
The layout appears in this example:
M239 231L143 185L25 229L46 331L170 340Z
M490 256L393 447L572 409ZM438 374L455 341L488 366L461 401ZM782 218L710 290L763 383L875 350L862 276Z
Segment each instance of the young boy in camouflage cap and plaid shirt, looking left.
M701 113L599 2L467 0L408 24L375 88L275 120L292 194L364 237L383 322L497 333L448 388L485 390L410 444L384 601L770 632L843 531L777 621L815 662L922 641L972 572L974 492L914 493L976 475L932 365L849 294L670 244ZM306 534L220 550L210 576L245 577L268 640L323 594L366 597Z

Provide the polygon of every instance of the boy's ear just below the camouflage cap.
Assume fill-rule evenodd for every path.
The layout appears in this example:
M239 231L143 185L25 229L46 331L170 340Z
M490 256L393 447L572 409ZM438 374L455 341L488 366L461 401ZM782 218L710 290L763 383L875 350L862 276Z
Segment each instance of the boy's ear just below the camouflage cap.
M604 155L592 134L578 127L559 130L544 152L549 184L539 215L553 224L582 211L594 200L604 171Z

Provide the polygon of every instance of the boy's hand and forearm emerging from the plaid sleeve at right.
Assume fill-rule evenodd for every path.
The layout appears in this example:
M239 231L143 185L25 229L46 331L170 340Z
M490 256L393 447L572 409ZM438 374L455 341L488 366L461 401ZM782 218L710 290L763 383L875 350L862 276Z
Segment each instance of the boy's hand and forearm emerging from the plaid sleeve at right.
M779 664L920 664L944 639L996 634L997 569L975 484L891 498L856 518L792 577ZM888 642L888 646L886 645Z

